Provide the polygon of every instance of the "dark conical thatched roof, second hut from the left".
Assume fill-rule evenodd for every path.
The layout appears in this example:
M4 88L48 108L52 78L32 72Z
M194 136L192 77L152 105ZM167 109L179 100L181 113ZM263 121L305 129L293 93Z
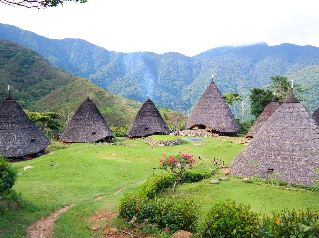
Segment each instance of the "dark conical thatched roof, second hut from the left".
M69 143L86 143L115 138L99 109L89 96L79 106L65 128L61 140Z

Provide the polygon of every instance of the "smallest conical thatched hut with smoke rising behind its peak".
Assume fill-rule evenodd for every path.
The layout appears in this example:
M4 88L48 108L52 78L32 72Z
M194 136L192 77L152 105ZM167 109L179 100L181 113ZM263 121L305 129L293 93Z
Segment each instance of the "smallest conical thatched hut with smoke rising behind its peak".
M169 131L159 111L150 97L144 102L134 118L126 135L133 137L146 137L150 135L167 135Z

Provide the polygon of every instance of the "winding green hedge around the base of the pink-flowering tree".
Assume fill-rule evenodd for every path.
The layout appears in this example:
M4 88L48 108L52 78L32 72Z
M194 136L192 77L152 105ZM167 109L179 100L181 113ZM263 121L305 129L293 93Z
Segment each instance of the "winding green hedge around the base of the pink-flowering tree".
M181 182L198 182L204 178L210 178L210 173L185 171ZM148 219L158 223L159 227L174 226L175 229L194 230L194 225L201 212L199 206L193 200L175 202L168 199L154 199L157 192L163 188L172 187L173 173L154 175L140 185L138 192L126 193L121 199L119 213L122 217L131 219L137 217L139 221Z

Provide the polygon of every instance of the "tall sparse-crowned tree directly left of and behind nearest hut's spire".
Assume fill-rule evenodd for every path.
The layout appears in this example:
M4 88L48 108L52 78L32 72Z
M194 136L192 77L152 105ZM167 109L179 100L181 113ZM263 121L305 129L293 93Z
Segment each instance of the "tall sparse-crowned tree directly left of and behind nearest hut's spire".
M270 76L269 77L271 79L271 84L270 86L268 86L268 88L272 88L274 91L276 91L278 99L280 101L280 104L283 104L286 99L289 97L290 95L290 91L291 91L291 82L288 81L287 77L284 76ZM308 90L310 90L311 88L306 88L306 89L301 89L300 88L301 85L294 83L293 84L293 92L295 94L295 97L299 100L302 101L305 99L305 96L297 96L297 94L306 92Z

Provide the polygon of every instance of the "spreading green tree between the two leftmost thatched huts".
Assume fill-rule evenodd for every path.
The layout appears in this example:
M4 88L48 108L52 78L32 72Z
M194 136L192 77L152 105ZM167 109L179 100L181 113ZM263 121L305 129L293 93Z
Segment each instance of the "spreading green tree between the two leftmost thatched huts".
M60 114L55 112L29 112L28 110L24 111L30 120L44 133L49 130L60 130L63 125L60 122L54 120L60 118Z

